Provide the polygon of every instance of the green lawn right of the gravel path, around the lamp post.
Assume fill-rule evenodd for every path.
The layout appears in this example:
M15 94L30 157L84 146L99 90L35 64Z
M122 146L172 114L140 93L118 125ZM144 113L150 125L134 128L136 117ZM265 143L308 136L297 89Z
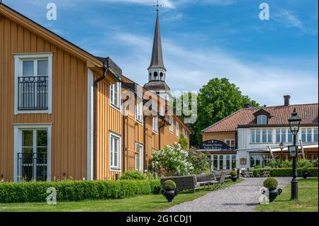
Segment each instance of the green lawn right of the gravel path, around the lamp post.
M298 200L290 200L291 186L274 203L258 205L259 212L318 212L318 178L299 179Z

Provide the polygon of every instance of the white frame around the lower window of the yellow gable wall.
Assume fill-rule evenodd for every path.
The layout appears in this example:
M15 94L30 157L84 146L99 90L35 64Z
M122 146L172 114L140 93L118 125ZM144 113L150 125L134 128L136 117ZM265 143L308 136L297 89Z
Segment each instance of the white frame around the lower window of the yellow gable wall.
M13 181L18 182L18 153L22 149L22 131L23 130L47 130L47 181L51 181L51 143L52 143L52 125L28 124L13 125Z

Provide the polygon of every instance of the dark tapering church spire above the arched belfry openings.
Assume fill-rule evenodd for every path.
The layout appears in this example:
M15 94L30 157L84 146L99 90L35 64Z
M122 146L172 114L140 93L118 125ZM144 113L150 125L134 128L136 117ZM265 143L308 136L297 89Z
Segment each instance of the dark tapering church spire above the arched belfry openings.
M155 23L153 50L152 50L152 60L148 70L150 69L164 69L164 71L166 72L166 69L164 67L163 52L162 52L162 38L161 38L161 30L159 26L158 4L157 4L157 18Z

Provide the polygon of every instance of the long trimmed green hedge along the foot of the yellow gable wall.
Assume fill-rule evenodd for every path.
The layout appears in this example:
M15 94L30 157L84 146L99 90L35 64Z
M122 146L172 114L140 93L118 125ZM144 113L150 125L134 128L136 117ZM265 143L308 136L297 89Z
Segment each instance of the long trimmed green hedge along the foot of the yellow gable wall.
M57 190L57 201L128 198L161 190L158 180L0 183L0 203L45 202L50 187Z

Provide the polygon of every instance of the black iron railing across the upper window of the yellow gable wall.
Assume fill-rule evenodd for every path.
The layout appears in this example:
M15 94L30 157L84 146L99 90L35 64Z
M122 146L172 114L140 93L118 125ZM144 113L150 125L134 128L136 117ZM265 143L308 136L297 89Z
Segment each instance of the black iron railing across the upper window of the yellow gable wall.
M47 110L47 76L18 77L18 110Z

